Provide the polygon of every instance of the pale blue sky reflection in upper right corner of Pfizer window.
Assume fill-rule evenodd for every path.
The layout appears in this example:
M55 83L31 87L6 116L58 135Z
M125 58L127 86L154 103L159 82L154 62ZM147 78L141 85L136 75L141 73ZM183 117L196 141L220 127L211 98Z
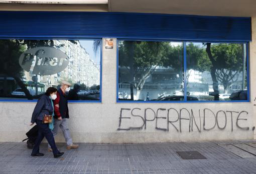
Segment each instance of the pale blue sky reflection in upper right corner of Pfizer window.
M97 50L96 54L93 50L93 41L94 40L79 40L81 45L85 48L85 50L89 53L90 58L99 65L100 63L100 49Z

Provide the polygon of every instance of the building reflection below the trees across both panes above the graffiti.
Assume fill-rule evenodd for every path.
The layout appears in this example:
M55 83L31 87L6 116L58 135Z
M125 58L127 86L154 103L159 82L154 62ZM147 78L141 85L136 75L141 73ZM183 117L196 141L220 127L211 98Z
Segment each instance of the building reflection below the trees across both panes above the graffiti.
M133 78L127 75L127 69L119 67L119 92L131 93L130 82L133 83ZM235 72L233 72L234 74ZM157 98L163 92L175 93L183 90L183 77L182 73L175 71L172 67L157 67L154 72L146 79L143 85L143 90L140 94L140 99L145 98L148 91L151 92L151 97ZM224 85L218 80L219 93L224 93ZM242 89L242 72L237 72L232 80L228 81L226 92L232 93L236 90ZM188 92L201 92L201 94L208 95L209 92L213 92L213 82L209 71L200 72L198 70L189 69L187 71L187 91ZM245 87L246 89L246 87ZM137 89L134 86L134 93ZM131 97L131 96L127 96Z

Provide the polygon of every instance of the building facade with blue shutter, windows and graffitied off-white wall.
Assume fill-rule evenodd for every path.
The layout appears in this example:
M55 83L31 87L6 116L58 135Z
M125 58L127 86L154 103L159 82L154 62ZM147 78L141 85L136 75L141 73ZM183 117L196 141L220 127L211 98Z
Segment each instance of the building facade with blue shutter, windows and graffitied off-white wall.
M5 4L0 11L5 26L0 28L0 37L4 41L54 40L53 48L65 53L69 61L63 70L43 77L36 74L39 88L40 83L41 88L57 86L62 79L86 86L99 85L97 102L82 99L69 103L74 142L255 138L256 14L244 12L243 5L238 14L232 10L221 13L217 8L196 13L197 7L188 11L178 2L179 12L172 8L165 14L154 9L135 11L131 6L131 11L125 12L57 12L59 7L41 11L40 5L33 4L37 10L29 11L28 5L23 8L27 10L21 11ZM112 7L115 5L121 6L113 2ZM105 10L110 11L110 7ZM32 16L40 16L41 23ZM35 24L33 29L31 24ZM12 28L13 25L22 29ZM100 63L92 60L80 42L69 41L86 39L101 41ZM22 47L19 51L24 52ZM33 81L32 76L33 72L26 71L23 78ZM14 77L2 78L3 86L8 86L8 80ZM225 93L234 96L224 98ZM36 99L1 98L0 141L20 141L25 137L31 128L35 104ZM56 140L63 142L64 138L60 134Z

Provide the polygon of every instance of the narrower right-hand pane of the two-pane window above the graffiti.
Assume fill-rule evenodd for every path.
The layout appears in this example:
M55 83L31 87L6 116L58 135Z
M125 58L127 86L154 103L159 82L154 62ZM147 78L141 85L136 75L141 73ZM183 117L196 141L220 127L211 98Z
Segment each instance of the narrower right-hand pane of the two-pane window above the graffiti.
M186 43L187 93L199 100L246 100L246 44Z

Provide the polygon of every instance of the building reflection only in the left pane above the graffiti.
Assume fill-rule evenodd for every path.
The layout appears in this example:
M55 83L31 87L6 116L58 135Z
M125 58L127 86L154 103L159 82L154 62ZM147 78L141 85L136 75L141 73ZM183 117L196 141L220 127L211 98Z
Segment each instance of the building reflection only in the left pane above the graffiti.
M126 68L119 67L119 98L131 98L130 82L133 83L133 77L127 74L132 75L132 73L127 72ZM146 79L139 98L135 99L145 100L147 97L150 99L157 99L163 94L172 94L176 91L182 91L183 78L180 74L182 74L182 72L178 72L172 67L157 66L154 72ZM137 93L135 86L133 86L133 91L135 94Z

